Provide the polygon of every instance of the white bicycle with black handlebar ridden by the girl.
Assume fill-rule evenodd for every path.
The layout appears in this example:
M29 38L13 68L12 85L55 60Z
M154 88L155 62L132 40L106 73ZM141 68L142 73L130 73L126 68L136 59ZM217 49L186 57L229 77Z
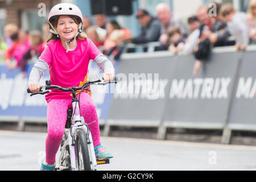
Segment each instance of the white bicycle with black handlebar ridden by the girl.
M114 77L114 81L105 82L102 78L95 81L87 81L79 87L61 87L51 85L50 81L46 81L46 86L40 86L41 92L32 93L47 94L52 90L61 90L63 92L72 92L72 106L67 110L67 121L65 131L60 145L59 166L56 170L61 171L96 171L97 164L109 164L109 159L96 160L92 135L89 127L84 123L84 119L80 115L80 99L77 99L76 91L88 88L89 85L106 85L109 83L117 83L118 78ZM31 93L27 89L28 93ZM80 98L80 97L79 97ZM90 125L90 123L89 123Z

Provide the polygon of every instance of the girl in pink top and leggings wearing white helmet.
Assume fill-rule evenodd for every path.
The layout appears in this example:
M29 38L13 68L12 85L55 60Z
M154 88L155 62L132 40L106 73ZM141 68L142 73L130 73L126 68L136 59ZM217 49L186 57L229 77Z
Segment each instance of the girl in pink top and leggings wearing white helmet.
M88 79L88 64L92 59L104 72L105 81L113 80L114 67L93 42L81 34L82 13L79 7L70 3L60 3L53 6L48 17L51 36L42 55L36 61L28 88L32 93L39 92L39 81L43 73L49 69L52 85L81 86ZM100 127L96 107L90 97L88 88L80 94L81 115L89 125L92 134L96 158L103 160L113 158L113 155L100 142ZM67 109L71 107L72 97L68 92L52 90L46 95L47 126L46 159L41 170L55 169L55 157L64 134Z

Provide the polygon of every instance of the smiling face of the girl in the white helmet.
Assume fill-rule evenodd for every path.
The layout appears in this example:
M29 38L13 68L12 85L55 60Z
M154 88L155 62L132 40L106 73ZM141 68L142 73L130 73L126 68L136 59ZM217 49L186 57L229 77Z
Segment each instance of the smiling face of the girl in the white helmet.
M70 40L76 36L78 24L68 15L61 15L56 30L61 38Z

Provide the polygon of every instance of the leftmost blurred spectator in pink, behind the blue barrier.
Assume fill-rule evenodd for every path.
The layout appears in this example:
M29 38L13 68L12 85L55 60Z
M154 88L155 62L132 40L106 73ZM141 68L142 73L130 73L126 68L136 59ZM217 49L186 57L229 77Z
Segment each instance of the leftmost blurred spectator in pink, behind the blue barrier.
M11 35L15 36L15 34ZM24 53L30 48L28 42L28 32L20 30L18 33L18 40L13 38L14 43L9 47L5 53L5 61L8 69L14 69L20 66L20 61ZM14 60L11 60L11 59Z

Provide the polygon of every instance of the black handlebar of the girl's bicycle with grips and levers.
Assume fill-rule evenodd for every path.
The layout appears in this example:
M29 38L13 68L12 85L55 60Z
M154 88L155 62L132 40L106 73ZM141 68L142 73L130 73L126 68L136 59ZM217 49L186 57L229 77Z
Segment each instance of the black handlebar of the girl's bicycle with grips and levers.
M103 82L102 80L104 80L103 78L98 78L98 80L95 80L95 81L87 81L85 82L84 85L82 86L74 86L74 87L71 87L71 88L67 88L67 87L62 87L62 86L58 86L58 85L46 85L46 86L40 86L40 91L42 91L42 89L44 88L44 92L36 92L36 93L32 93L30 94L30 96L34 96L36 94L47 94L50 92L51 89L58 89L58 90L61 90L63 92L73 92L73 91L77 91L77 90L81 90L82 88L85 88L86 86L89 86L89 85L92 85L92 84L98 84L98 85L106 85L106 84L111 84L111 83L114 83L116 84L117 81L118 81L118 77L117 76L114 76L114 79L113 81L109 81L109 82ZM46 81L47 82L47 81ZM31 93L30 92L30 89L27 89L27 93Z

